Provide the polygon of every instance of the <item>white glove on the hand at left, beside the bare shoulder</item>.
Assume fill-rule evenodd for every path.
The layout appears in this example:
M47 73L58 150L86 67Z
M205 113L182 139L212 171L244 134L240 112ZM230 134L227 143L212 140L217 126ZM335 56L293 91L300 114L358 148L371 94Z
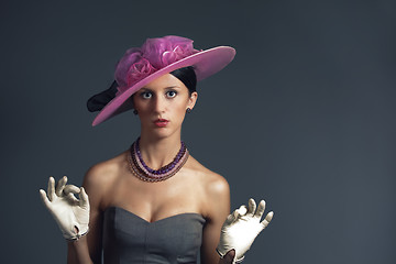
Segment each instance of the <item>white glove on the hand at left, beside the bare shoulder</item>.
M66 240L78 240L88 232L89 200L85 189L74 185L66 185L64 176L56 185L55 179L50 177L48 197L40 189L41 198L57 222ZM79 199L74 195L78 194ZM50 198L50 199L48 199Z

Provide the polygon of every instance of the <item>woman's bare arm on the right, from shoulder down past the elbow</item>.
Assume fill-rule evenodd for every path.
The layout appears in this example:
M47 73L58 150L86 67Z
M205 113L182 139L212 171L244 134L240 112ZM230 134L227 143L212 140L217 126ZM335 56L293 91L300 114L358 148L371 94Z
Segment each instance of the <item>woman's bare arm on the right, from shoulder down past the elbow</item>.
M220 260L216 248L220 240L222 223L230 213L230 187L223 177L215 175L212 180L206 184L205 189L207 222L202 233L201 263L224 263Z

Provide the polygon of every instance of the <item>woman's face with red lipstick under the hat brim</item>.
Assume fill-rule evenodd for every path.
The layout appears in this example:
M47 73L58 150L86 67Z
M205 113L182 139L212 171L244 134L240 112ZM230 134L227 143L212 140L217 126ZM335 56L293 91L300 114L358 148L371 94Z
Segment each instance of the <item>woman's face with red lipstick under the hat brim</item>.
M133 106L141 120L142 134L169 136L180 133L186 109L193 109L197 92L170 74L153 80L133 96Z

